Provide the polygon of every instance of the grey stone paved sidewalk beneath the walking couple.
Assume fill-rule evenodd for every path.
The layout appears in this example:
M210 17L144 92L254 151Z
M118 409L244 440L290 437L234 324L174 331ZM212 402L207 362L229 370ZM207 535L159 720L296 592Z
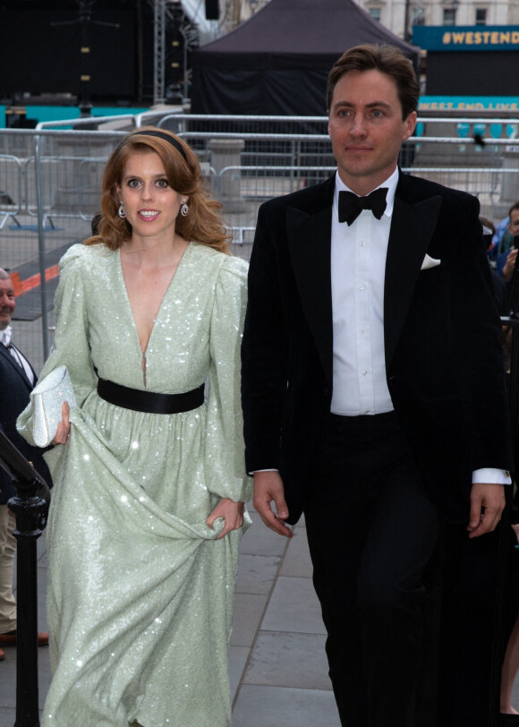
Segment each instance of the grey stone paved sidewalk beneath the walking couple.
M251 517L253 525L240 549L229 654L233 727L340 727L304 523L294 527L294 537L288 541L268 530L254 512ZM40 630L47 629L46 586L42 537L38 541ZM6 649L5 654L0 662L0 727L13 727L16 651ZM48 649L38 649L38 657L41 708L50 682Z

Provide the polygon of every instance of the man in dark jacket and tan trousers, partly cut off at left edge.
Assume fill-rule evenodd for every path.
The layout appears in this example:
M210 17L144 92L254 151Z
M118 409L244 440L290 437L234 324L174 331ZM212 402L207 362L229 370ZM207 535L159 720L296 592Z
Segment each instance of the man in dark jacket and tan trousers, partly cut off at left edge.
M16 418L29 404L30 391L36 383L34 369L11 341L11 320L16 302L9 274L0 268L0 431L9 437L30 459L51 485L50 474L41 450L31 447L16 431ZM16 602L13 596L13 564L16 540L15 520L7 508L7 500L16 495L11 477L0 467L0 647L16 644ZM38 646L48 644L48 634L38 633ZM0 648L0 660L4 659Z

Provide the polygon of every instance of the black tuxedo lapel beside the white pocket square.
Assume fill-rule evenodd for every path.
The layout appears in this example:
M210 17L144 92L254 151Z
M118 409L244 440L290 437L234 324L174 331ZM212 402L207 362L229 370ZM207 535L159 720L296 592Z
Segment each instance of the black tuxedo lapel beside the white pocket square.
M396 190L395 206L387 245L384 286L384 343L386 366L396 344L418 282L421 264L438 220L441 198L409 203Z

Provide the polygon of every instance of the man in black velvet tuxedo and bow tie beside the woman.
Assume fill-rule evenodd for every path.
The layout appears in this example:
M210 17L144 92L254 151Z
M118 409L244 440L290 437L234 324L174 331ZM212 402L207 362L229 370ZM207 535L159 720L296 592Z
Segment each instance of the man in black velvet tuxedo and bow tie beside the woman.
M254 505L287 537L304 512L347 727L409 723L441 527L493 530L510 482L479 203L397 167L418 98L396 48L347 51L328 77L336 175L262 205L251 254Z

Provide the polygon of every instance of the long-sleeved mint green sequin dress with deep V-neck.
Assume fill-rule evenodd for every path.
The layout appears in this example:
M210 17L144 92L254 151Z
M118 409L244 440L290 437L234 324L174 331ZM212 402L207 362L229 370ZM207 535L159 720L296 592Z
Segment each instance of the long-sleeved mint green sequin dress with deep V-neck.
M247 264L191 243L146 351L146 388L208 381L203 406L153 415L98 397L97 376L144 389L119 252L73 245L60 263L43 378L71 374L67 444L46 455L53 680L43 727L225 727L234 578L243 530L216 540L220 497L248 500L240 407ZM19 419L31 439L31 409Z

